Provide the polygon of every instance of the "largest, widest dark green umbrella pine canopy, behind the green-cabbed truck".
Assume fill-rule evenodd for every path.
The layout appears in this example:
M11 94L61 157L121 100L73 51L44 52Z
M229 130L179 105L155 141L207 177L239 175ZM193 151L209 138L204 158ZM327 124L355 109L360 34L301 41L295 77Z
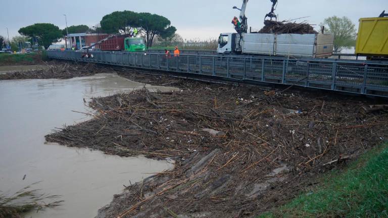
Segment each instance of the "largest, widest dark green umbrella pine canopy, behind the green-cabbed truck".
M155 36L171 37L176 28L171 26L167 18L150 13L136 13L132 11L113 12L101 20L101 28L106 33L127 32L132 28L139 28L146 36L147 47L152 46Z

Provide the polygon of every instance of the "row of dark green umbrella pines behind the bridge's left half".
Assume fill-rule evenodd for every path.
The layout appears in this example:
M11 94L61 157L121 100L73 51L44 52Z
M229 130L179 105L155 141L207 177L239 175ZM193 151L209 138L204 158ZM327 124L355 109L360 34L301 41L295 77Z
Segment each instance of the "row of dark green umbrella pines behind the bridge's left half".
M150 13L136 13L132 11L113 12L106 15L100 22L101 27L94 29L86 25L70 26L61 30L58 26L50 23L37 23L19 29L22 36L35 39L39 45L48 48L52 43L58 42L67 33L122 33L137 28L140 34L146 37L147 46L150 47L156 36L162 38L171 37L176 28L171 26L167 18ZM96 25L97 26L97 25Z

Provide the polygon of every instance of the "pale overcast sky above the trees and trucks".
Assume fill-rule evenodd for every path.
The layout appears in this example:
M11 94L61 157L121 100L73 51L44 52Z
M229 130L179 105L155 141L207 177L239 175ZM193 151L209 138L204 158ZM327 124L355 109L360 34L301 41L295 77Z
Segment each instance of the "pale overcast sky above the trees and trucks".
M231 20L239 12L241 0L2 0L0 35L19 35L21 27L34 23L53 23L61 29L85 24L93 26L104 15L114 11L150 12L167 17L185 39L217 38L221 32L233 32ZM247 8L248 25L254 29L263 26L264 16L271 9L270 0L251 0ZM349 17L357 26L362 17L377 17L388 11L388 0L278 0L276 14L280 20L308 17L310 24L319 25L330 16Z

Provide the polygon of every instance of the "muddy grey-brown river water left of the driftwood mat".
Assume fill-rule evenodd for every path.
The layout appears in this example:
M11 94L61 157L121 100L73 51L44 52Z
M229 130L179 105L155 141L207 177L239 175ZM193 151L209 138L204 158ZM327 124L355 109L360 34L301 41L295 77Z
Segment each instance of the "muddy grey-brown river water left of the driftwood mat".
M26 217L94 217L114 194L122 192L123 185L170 169L172 166L167 161L122 158L44 143L44 135L54 128L90 119L72 112L89 113L83 98L143 86L115 74L68 80L0 81L0 191L12 194L41 181L33 188L62 195L61 200L65 202Z

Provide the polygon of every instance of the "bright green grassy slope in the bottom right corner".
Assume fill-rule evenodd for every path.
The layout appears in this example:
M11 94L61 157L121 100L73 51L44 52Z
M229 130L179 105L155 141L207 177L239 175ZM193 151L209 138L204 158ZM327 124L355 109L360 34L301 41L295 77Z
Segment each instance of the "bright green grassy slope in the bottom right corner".
M344 172L264 217L388 217L388 144L376 147Z

